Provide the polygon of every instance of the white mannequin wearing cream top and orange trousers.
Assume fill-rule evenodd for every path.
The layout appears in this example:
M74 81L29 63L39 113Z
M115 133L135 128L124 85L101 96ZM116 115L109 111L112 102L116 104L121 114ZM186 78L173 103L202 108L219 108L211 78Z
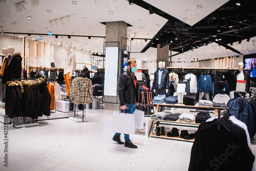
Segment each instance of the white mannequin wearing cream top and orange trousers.
M73 54L70 49L71 49L71 45L69 44L65 45L65 50L68 52L68 55L65 59L65 68L64 68L64 79L65 79L65 84L66 84L67 94L68 94L65 101L70 100L71 77L75 73L76 57L75 57L75 54Z

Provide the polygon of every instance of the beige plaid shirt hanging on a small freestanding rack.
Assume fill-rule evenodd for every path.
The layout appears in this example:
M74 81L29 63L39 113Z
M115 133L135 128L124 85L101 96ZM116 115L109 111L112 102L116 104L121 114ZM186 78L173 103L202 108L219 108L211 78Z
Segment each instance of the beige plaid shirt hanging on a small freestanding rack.
M72 80L70 101L76 104L93 102L92 81L89 78L77 77Z

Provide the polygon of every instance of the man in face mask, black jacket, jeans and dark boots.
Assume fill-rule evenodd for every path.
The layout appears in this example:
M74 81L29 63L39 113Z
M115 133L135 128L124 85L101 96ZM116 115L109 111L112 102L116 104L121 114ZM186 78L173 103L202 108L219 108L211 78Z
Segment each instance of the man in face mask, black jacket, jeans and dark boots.
M124 113L133 114L136 105L138 105L138 94L139 94L139 84L137 83L137 78L134 75L137 71L137 63L135 59L129 59L127 61L128 70L121 74L118 84L118 95L120 100L121 109ZM129 134L124 134L123 143L120 139L120 133L116 133L112 140L116 141L118 144L124 144L125 147L138 148L130 140Z

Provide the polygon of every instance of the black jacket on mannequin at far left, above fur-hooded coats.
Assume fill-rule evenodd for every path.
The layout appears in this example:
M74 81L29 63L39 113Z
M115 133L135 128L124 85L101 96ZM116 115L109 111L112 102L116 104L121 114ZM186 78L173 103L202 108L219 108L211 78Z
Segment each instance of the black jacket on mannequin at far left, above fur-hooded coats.
M20 53L17 52L13 56L7 58L5 70L3 74L3 84L6 84L7 81L11 81L12 78L20 79L22 77L22 57Z

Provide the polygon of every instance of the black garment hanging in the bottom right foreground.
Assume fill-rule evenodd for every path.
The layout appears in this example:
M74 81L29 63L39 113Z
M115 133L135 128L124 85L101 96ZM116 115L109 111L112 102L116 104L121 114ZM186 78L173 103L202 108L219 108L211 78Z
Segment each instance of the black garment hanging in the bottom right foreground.
M252 170L254 156L246 132L228 118L224 116L199 125L191 148L189 171Z

